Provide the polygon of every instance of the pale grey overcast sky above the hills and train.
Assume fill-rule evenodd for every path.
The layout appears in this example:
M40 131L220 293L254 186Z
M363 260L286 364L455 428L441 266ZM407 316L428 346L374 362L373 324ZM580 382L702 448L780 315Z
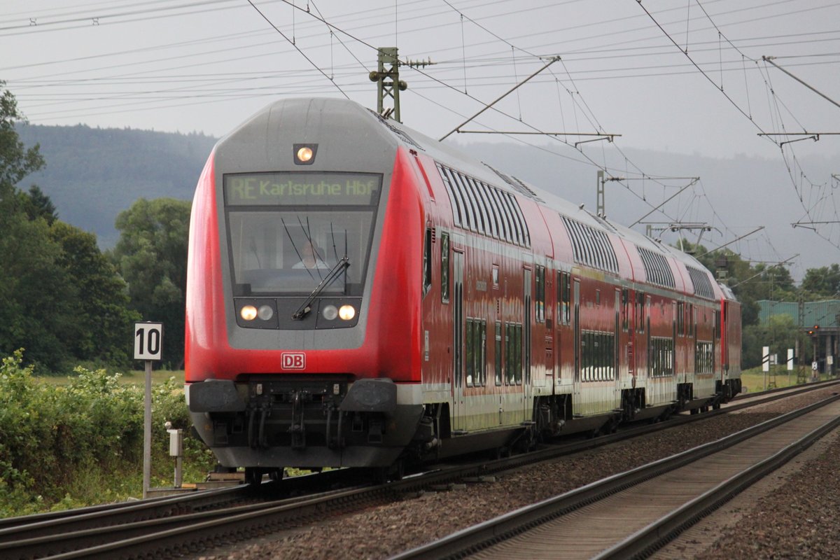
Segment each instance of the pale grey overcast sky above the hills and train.
M727 159L784 154L790 192L807 195L790 221L837 220L840 135L827 133L840 133L840 2L4 0L0 80L31 123L221 136L278 97L375 107L368 73L375 48L389 46L434 63L401 69L402 121L434 138L559 56L464 128L615 134L607 148ZM824 134L759 136L803 131ZM561 157L604 161L605 141L575 149L596 137L561 138L551 141ZM788 140L799 141L780 146ZM809 175L801 165L815 155L837 169ZM819 234L824 264L840 260L840 228Z

